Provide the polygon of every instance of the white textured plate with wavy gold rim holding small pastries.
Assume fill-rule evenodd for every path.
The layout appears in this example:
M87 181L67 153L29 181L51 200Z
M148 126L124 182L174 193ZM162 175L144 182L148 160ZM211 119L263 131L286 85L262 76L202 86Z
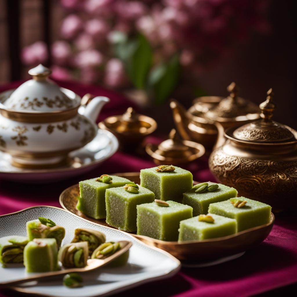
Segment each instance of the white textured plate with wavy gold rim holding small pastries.
M85 219L73 216L68 211L57 207L35 206L22 211L0 216L0 237L9 235L26 236L26 222L38 217L52 219L66 230L62 245L69 243L75 228L91 228L105 233L107 241L132 241L128 264L120 268L98 268L82 273L83 287L67 288L62 284L62 277L43 281L27 282L13 287L14 290L29 294L59 297L108 296L127 290L145 282L170 277L177 273L180 262L167 252L149 247L133 236L122 231L94 225ZM16 264L7 268L0 267L0 284L7 280L25 275L25 268Z

